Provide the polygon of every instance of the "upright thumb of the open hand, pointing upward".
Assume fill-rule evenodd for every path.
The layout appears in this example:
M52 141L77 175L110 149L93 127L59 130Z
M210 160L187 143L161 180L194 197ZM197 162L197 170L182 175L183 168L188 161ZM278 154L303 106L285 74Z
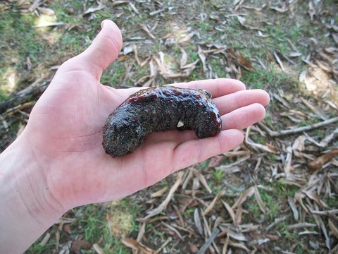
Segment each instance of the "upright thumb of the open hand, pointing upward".
M76 57L81 66L98 79L102 71L118 57L122 48L121 31L113 21L102 21L101 28L92 44Z

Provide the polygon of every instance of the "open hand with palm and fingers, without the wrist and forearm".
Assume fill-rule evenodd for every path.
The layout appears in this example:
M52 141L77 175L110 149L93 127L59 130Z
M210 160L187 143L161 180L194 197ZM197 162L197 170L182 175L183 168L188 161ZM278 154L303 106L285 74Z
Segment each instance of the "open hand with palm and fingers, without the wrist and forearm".
M202 140L193 131L152 133L132 154L112 158L101 145L102 125L113 109L139 88L115 90L101 85L102 71L122 47L117 26L105 20L102 27L85 52L58 69L23 132L36 156L48 162L43 171L49 190L65 210L121 198L231 150L242 143L240 130L263 119L263 106L269 102L266 92L245 90L238 80L175 84L211 92L222 115L223 131Z

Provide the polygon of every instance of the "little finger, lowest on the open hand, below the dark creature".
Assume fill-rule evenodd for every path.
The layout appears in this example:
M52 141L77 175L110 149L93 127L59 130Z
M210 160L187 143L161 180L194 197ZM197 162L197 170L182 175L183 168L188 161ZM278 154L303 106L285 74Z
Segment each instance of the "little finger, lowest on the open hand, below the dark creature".
M221 131L215 137L184 142L178 145L174 150L174 171L203 162L210 157L232 150L242 143L243 139L244 135L242 131L230 129Z

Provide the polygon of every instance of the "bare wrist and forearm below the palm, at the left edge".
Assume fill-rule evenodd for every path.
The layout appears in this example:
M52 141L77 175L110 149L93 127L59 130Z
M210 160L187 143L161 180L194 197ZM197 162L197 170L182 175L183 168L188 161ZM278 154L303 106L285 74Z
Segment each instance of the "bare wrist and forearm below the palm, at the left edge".
M0 246L6 253L20 253L65 210L49 191L44 168L50 167L49 158L30 147L25 138L18 138L1 153L0 165Z

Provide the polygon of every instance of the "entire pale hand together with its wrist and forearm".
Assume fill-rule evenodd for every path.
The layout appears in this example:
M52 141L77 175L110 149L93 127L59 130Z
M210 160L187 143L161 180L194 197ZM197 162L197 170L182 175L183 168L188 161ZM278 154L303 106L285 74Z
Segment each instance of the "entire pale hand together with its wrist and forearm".
M193 131L152 133L125 157L101 145L107 116L140 88L102 85L102 71L122 47L111 20L82 54L63 63L32 109L25 131L0 155L0 249L23 253L73 207L105 202L153 185L173 172L236 147L242 129L265 116L263 90L220 78L175 84L211 92L223 131L198 139ZM121 144L123 145L123 144Z

